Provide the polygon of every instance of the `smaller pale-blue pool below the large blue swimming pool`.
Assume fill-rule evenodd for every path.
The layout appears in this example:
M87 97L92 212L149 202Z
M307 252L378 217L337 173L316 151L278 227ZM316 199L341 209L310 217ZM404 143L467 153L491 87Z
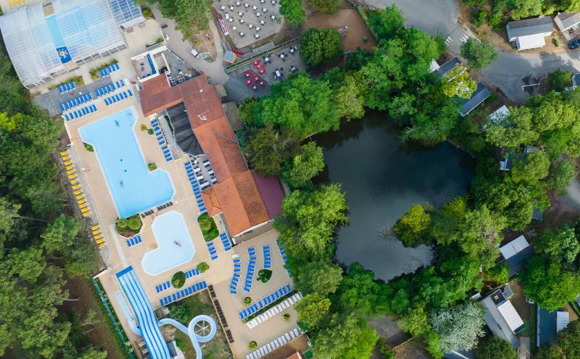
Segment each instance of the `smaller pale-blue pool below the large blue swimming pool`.
M151 228L157 248L143 256L145 273L155 275L193 259L195 247L181 213L164 213L153 220Z

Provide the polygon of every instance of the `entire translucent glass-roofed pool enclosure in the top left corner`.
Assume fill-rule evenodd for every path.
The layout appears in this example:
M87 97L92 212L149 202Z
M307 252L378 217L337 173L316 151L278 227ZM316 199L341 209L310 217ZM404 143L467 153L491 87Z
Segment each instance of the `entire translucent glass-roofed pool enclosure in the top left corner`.
M0 17L8 55L22 84L33 88L75 66L126 46L119 27L144 21L133 0L24 3Z

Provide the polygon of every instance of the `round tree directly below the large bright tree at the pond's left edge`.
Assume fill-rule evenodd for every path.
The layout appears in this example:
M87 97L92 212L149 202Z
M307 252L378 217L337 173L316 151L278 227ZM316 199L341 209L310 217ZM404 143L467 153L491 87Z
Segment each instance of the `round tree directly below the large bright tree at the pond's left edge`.
M313 260L300 268L296 279L302 293L328 295L338 288L342 280L342 268L326 260Z

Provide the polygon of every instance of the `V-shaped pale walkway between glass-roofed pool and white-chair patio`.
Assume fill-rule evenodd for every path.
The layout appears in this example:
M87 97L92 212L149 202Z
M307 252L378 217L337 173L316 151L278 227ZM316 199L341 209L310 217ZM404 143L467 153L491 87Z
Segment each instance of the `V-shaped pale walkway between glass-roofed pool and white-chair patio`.
M193 50L191 43L189 43L189 41L183 41L182 33L175 30L175 21L164 18L156 6L149 5L149 7L153 12L153 16L155 16L157 23L159 23L160 26L167 25L166 28L162 29L162 32L164 37L166 37L166 35L169 36L169 41L166 41L168 48L179 55L182 59L186 60L193 68L204 72L207 75L208 80L213 84L224 84L229 80L229 76L224 71L224 49L220 41L220 33L213 21L209 21L209 30L213 36L213 42L218 55L213 62L198 60L195 59L195 56L191 55L191 50Z

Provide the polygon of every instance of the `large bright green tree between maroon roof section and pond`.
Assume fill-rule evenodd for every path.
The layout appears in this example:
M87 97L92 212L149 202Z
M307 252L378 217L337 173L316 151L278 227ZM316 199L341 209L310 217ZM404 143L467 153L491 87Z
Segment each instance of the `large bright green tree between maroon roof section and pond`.
M327 252L336 226L348 220L347 201L339 184L314 191L294 191L284 197L274 227L287 246L302 246L313 255Z

